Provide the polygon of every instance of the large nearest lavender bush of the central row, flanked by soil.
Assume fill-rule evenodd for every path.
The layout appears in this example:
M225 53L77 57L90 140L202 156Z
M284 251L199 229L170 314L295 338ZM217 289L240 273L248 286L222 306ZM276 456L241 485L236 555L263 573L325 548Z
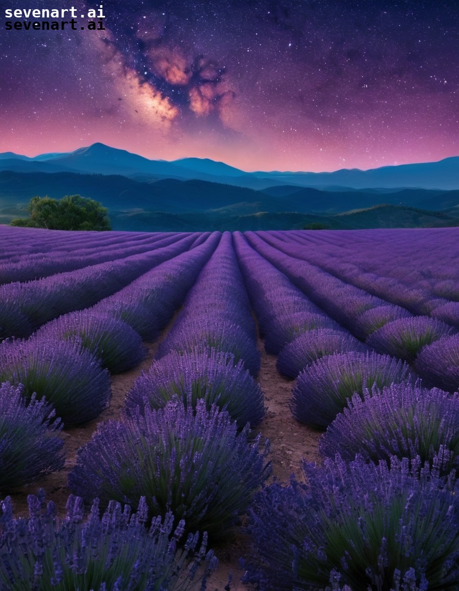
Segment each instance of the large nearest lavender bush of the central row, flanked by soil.
M87 501L110 499L132 506L145 496L152 515L172 511L188 530L228 534L268 478L268 445L260 436L247 443L228 413L204 400L196 411L177 398L145 415L100 424L82 447L68 478L71 491Z

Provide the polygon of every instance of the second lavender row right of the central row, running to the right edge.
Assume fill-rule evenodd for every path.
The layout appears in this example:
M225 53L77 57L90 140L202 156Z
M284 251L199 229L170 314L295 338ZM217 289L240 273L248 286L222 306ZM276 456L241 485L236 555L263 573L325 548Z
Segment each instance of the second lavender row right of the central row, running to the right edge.
M280 251L263 240L265 235L248 232L246 237L307 296L359 339L379 353L414 364L415 371L430 387L457 390L459 335L455 326L427 315L413 316L405 308L297 258L295 253L303 251L285 239Z

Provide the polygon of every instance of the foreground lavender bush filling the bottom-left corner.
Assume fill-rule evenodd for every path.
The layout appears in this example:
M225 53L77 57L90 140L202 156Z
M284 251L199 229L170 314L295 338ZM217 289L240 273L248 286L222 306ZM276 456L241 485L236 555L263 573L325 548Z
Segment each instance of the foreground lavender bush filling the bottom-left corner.
M112 501L101 518L96 500L86 521L83 499L73 495L63 519L53 502L45 506L42 490L28 496L28 505L28 518L14 518L11 499L1 504L2 591L185 591L199 579L204 590L218 564L205 534L201 544L190 534L178 545L184 523L174 525L170 513L148 530L143 498L136 514Z

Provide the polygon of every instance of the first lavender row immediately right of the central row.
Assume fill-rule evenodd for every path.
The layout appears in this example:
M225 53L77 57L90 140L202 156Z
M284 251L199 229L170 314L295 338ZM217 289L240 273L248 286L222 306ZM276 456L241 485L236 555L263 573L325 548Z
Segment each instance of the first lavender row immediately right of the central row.
M353 392L362 394L373 384L382 388L411 379L406 363L370 352L242 235L236 234L235 242L265 348L279 354L277 367L282 373L298 376L290 401L297 420L327 427Z

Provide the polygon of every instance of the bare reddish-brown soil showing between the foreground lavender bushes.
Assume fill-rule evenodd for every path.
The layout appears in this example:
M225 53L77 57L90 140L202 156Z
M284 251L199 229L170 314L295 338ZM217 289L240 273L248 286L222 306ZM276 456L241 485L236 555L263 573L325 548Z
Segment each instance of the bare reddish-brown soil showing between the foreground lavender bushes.
M76 463L77 450L91 439L98 423L119 418L124 397L132 388L140 372L147 370L151 365L158 348L158 342L146 343L146 347L148 355L139 366L123 374L112 375L112 400L109 407L104 410L97 420L91 421L84 426L65 428L62 433L66 457L64 468L10 494L14 503L15 515L28 515L27 495L36 493L39 488L44 488L48 501L55 502L58 513L65 514L65 502L70 493L67 488L67 475ZM302 480L301 460L305 459L308 462L320 460L317 450L320 432L314 431L294 420L290 408L288 408L294 382L278 374L276 356L264 352L262 340L259 341L258 348L261 351L261 370L258 381L264 392L267 406L266 417L258 430L271 443L270 459L273 465L273 476L281 483L288 483L292 473L298 480ZM250 541L247 535L244 534L243 529L241 528L235 534L233 540L213 548L219 559L219 566L209 580L208 590L224 591L225 588L228 589L225 586L228 584L229 573L232 573L232 582L229 585L231 591L253 589L252 586L240 581L244 571L239 564L239 560L250 553Z

